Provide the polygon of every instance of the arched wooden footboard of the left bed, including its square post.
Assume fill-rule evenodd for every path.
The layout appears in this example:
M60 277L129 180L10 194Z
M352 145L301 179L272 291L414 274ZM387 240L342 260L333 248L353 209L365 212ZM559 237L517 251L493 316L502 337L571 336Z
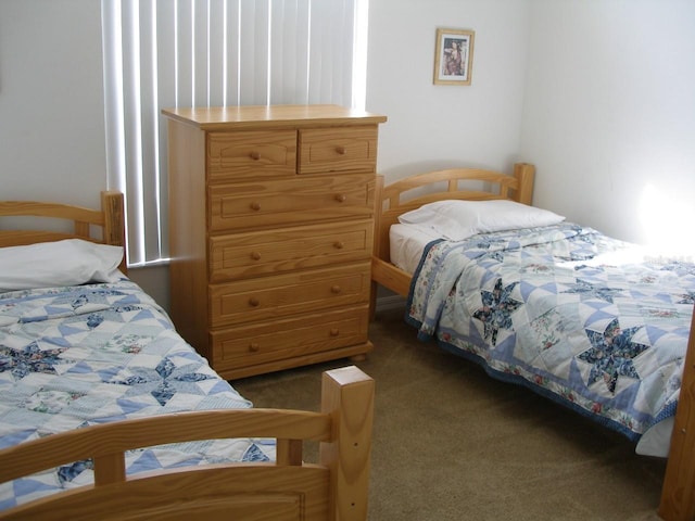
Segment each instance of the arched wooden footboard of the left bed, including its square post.
M2 520L365 520L374 380L354 366L323 377L321 411L236 409L106 423L0 452L8 482L93 458L94 485L0 512ZM195 440L275 437L273 463L219 463L125 475L124 453ZM302 462L302 442L320 461Z

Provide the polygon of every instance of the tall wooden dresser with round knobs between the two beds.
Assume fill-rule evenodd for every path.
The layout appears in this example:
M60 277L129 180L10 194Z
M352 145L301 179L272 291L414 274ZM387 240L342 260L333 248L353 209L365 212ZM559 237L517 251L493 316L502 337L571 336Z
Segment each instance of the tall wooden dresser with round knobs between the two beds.
M367 353L386 117L337 105L163 114L180 334L226 379Z

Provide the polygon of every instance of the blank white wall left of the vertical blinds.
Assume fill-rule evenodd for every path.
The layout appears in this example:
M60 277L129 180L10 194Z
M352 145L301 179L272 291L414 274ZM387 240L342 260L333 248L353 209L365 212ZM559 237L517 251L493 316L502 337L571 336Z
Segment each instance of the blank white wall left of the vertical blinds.
M0 199L97 207L106 188L101 4L0 1Z

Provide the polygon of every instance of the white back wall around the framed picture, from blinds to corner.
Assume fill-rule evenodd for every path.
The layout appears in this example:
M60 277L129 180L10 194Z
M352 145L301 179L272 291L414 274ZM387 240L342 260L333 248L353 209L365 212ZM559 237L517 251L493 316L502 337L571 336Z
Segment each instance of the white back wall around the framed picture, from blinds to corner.
M370 0L367 110L380 128L388 180L462 164L519 158L527 0ZM438 27L473 29L472 85L433 85Z

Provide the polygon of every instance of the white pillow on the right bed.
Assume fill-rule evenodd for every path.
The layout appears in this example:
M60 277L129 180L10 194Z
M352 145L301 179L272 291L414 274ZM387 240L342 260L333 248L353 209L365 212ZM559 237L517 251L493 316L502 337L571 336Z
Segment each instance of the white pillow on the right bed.
M547 209L508 200L437 201L399 217L402 224L434 231L450 241L463 241L476 233L551 226L563 220L565 217Z

